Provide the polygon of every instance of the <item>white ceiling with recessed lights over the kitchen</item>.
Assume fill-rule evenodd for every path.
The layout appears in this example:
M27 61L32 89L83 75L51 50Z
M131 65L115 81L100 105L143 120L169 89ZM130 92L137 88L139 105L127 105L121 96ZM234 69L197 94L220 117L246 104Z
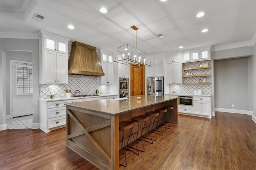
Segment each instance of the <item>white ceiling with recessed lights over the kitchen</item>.
M102 6L106 14L99 12ZM0 7L1 37L36 35L42 29L113 52L132 45L132 25L139 28L137 48L149 54L256 36L256 0L0 0ZM197 18L201 11L206 15ZM33 20L36 13L45 20ZM204 28L209 31L202 33ZM157 37L160 33L166 37Z

